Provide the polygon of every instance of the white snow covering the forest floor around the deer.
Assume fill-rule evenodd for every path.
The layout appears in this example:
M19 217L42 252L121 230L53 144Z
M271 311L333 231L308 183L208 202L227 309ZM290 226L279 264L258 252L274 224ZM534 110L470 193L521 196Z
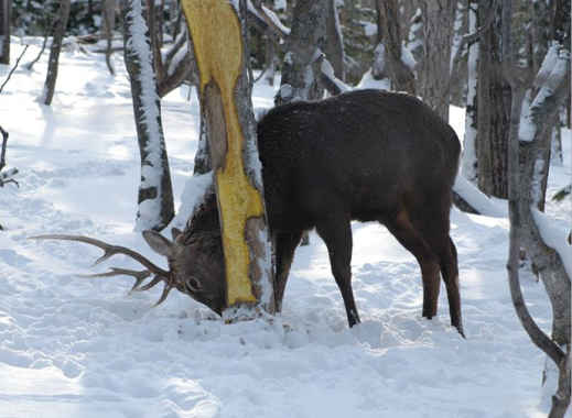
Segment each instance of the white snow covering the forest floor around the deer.
M39 41L24 42L34 43L25 62ZM20 188L0 189L0 418L546 416L544 356L510 302L504 218L452 211L466 340L449 324L445 292L438 318L421 318L419 267L374 223L353 226L363 323L352 330L315 234L296 252L273 321L224 324L176 292L151 308L160 289L128 296L130 278L77 277L105 270L89 267L100 251L26 238L86 234L165 263L133 232L139 151L120 56L111 77L101 55L63 53L48 108L34 101L46 55L0 96L8 164L20 169ZM0 66L0 79L8 70ZM255 106L270 107L272 94L256 86ZM176 91L162 110L179 198L197 145L196 99ZM452 109L452 124L464 125L462 110ZM564 147L551 193L570 182L570 132ZM570 222L570 199L548 212ZM106 264L136 267L121 256ZM542 284L524 270L522 287L548 331Z

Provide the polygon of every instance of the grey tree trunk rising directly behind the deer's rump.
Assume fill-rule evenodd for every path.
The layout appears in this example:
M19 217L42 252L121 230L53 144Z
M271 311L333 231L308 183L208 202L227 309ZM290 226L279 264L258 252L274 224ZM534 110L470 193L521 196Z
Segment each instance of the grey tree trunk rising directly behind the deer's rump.
M449 121L451 97L451 43L455 0L422 0L423 56L418 94L439 116Z

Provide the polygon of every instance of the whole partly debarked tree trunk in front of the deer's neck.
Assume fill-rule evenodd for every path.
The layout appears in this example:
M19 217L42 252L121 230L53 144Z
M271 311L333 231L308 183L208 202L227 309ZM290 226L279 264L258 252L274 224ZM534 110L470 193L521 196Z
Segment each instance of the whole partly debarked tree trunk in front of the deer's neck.
M201 75L226 266L227 320L274 311L271 242L251 107L246 1L182 0ZM255 310L245 311L245 307Z

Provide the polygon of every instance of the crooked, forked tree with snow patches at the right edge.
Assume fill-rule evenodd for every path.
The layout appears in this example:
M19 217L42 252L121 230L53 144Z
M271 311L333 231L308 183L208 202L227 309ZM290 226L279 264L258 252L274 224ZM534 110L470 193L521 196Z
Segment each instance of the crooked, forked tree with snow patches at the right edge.
M509 48L511 1L503 3L503 45ZM557 0L552 41L532 85L527 69L504 63L512 88L509 146L510 248L508 276L517 315L533 343L558 372L547 367L546 384L555 391L549 418L561 418L570 405L570 332L572 260L565 232L541 213L542 183L548 176L550 138L559 109L570 89L570 0ZM529 100L524 100L530 95ZM535 263L552 307L552 332L547 337L527 310L519 285L519 253L525 248ZM555 375L558 373L558 376Z

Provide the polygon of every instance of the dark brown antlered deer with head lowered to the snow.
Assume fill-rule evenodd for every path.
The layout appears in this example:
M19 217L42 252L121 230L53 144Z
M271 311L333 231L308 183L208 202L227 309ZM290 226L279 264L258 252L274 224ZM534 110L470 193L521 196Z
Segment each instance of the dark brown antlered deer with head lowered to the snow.
M277 311L294 251L304 231L324 241L332 274L353 327L360 322L352 289L353 220L377 221L417 260L422 279L422 317L438 311L441 276L451 324L464 336L457 252L450 237L452 187L460 141L453 129L420 99L400 92L353 90L320 101L294 101L271 109L257 125L263 197L273 243ZM211 190L183 231L172 239L148 230L143 239L165 256L163 270L140 253L83 235L47 234L40 239L79 241L104 255L125 254L143 267L111 267L93 276L129 275L132 290L159 283L176 288L222 315L227 307L217 200ZM153 278L144 284L145 278Z

